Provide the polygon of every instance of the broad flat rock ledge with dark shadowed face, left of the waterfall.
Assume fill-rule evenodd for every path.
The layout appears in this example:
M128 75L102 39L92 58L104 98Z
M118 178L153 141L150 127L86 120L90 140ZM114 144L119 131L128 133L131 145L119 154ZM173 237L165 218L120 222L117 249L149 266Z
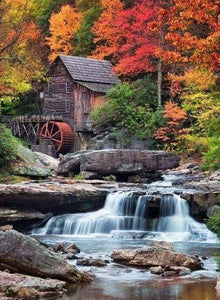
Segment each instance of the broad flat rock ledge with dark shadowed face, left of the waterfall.
M70 179L0 184L0 207L53 214L95 211L103 207L112 189L116 189L115 184L108 187L106 182L91 184Z

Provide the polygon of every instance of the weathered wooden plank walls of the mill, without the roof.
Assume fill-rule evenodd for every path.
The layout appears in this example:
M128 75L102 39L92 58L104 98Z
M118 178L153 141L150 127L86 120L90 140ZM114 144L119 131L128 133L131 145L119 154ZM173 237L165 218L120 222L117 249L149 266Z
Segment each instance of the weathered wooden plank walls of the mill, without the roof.
M66 91L67 84L69 93ZM98 106L101 95L74 82L59 60L52 67L50 82L44 90L44 113L62 115L64 121L67 121L74 130L88 131L91 128L90 112L92 107ZM69 112L67 112L68 101Z

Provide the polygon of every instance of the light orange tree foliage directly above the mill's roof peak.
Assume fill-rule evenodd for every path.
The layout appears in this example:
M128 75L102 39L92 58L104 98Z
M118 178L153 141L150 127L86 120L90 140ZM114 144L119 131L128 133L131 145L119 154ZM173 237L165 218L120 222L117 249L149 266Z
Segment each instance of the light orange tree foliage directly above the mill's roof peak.
M60 12L50 18L50 34L47 45L50 47L49 60L53 61L59 54L69 54L73 49L72 38L77 32L82 19L82 14L75 8L65 5Z

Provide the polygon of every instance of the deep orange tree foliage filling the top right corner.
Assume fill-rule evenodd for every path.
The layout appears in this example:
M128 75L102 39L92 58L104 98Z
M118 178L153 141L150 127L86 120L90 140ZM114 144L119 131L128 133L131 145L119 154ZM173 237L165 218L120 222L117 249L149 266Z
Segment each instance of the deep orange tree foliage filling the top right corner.
M161 52L168 64L216 68L219 40L219 0L175 0L167 14L165 41L172 49ZM168 50L168 51L167 51Z

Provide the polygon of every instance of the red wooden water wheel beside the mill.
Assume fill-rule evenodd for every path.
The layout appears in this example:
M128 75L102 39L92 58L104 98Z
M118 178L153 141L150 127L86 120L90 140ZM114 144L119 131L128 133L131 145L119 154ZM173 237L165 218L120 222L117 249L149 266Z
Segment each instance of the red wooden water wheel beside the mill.
M69 124L49 121L43 125L39 137L49 139L57 153L66 153L73 144L73 131Z

